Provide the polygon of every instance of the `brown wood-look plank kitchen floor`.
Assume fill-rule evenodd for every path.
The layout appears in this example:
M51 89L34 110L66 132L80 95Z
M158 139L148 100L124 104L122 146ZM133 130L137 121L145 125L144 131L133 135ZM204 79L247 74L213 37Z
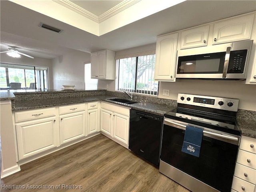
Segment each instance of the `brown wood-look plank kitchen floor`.
M35 189L38 186L47 189ZM1 180L0 188L1 192L189 192L102 134L21 166L20 172Z

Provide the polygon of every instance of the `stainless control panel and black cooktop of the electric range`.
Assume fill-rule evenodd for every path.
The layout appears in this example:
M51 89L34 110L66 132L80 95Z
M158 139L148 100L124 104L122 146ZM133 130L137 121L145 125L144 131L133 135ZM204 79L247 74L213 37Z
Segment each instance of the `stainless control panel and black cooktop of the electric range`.
M178 107L164 116L240 136L235 118L237 107L237 99L178 94Z

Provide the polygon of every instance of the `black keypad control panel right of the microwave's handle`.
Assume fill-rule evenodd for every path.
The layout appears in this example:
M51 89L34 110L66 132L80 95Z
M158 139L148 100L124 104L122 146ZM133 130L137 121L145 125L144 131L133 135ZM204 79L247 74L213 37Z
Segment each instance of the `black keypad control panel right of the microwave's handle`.
M228 63L228 73L244 73L247 50L231 51Z

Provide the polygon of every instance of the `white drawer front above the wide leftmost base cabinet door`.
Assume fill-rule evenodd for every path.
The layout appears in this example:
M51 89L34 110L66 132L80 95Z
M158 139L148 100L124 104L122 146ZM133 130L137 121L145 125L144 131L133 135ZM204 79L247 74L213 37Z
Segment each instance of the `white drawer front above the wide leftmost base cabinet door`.
M46 109L15 112L14 113L15 122L17 123L22 121L56 116L56 112L57 112L56 108L46 108Z

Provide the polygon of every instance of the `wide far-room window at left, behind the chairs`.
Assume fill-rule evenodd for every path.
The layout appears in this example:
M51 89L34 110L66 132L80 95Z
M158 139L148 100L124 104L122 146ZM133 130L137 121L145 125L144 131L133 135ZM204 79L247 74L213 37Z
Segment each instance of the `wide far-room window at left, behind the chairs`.
M1 63L0 89L11 89L10 83L20 83L20 89L47 89L48 68Z

